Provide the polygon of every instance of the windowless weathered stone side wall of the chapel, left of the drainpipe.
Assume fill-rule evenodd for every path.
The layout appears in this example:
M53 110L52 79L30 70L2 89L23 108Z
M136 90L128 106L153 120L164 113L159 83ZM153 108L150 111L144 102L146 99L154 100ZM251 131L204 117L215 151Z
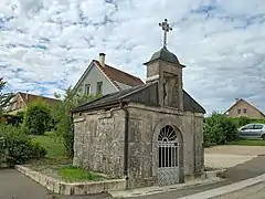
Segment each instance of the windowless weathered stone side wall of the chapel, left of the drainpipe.
M75 119L73 165L123 178L125 113L83 114Z

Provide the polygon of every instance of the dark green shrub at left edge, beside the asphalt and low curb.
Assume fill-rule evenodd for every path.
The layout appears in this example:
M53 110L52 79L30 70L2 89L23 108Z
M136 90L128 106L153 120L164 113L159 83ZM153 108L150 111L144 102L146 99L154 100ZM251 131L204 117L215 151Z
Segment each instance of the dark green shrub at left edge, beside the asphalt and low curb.
M0 150L6 151L6 161L9 166L24 164L30 159L40 159L46 155L46 150L24 134L22 127L0 124L0 137L4 143Z

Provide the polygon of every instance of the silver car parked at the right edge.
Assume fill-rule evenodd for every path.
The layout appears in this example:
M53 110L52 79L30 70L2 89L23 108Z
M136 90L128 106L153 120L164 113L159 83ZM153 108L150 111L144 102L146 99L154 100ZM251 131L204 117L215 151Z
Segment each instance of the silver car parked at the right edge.
M265 140L265 124L247 124L239 129L240 137L262 138Z

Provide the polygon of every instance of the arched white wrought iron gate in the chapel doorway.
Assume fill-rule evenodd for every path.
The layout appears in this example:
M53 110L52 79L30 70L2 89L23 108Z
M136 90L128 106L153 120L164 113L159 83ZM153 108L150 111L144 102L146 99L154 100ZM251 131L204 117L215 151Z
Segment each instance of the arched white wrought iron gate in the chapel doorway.
M178 137L172 126L167 125L158 136L158 185L179 182Z

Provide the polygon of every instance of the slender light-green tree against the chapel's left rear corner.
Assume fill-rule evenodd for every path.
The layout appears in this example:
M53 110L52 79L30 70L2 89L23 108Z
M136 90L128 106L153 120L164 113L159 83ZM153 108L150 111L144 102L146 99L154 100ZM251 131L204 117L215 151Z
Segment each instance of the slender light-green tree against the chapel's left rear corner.
M60 100L61 95L55 94L55 97ZM68 158L73 158L74 156L74 123L71 111L81 104L98 97L100 97L100 94L78 95L74 90L68 87L65 91L63 100L61 100L62 103L59 103L57 106L54 107L53 118L55 121L56 134L63 138Z

